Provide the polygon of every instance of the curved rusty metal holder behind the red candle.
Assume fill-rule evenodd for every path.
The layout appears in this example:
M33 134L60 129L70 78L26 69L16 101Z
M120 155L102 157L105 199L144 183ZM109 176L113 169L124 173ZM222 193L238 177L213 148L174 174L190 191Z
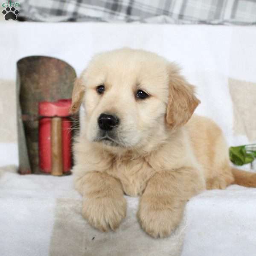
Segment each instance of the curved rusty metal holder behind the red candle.
M38 102L69 99L75 70L66 62L45 56L17 61L17 124L19 172L41 173L38 166Z

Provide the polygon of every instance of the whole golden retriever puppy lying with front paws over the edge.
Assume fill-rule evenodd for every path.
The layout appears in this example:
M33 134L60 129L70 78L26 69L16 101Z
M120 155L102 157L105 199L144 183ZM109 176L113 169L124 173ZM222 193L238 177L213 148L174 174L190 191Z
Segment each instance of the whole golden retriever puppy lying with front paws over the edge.
M124 193L141 196L137 217L145 232L166 237L204 189L256 185L256 175L230 166L221 129L192 116L200 103L194 87L154 53L96 55L75 82L71 112L81 102L86 122L73 173L82 214L99 230L115 230L125 218Z

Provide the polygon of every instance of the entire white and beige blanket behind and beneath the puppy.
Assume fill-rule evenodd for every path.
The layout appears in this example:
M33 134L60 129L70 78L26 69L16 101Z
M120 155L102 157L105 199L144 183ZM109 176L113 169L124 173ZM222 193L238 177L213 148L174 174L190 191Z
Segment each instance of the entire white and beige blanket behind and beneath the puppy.
M99 51L129 46L157 52L178 62L198 87L202 103L196 112L218 122L229 145L256 141L256 27L3 22L0 34L3 81L15 79L16 61L28 55L61 58L80 74ZM0 103L2 120L15 119L15 113L6 116L15 102L0 94ZM5 122L2 136L3 128ZM0 165L17 163L15 137L9 142L0 138ZM176 256L184 235L182 256L256 252L256 189L204 192L189 202L174 236L154 240L137 224L137 198L128 198L128 216L116 233L99 233L81 218L72 176L20 176L3 170L0 255Z

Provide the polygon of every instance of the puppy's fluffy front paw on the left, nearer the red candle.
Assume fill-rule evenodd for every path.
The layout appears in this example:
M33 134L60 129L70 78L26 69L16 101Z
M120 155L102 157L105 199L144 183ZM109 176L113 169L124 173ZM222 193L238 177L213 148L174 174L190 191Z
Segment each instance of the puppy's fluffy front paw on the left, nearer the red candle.
M103 232L116 230L126 215L125 198L84 198L82 215Z

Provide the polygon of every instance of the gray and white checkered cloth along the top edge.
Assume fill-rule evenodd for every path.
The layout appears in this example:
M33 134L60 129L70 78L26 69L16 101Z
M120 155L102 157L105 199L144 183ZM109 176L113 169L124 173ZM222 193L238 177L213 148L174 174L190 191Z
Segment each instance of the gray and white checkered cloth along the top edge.
M256 24L256 0L20 0L20 20Z

